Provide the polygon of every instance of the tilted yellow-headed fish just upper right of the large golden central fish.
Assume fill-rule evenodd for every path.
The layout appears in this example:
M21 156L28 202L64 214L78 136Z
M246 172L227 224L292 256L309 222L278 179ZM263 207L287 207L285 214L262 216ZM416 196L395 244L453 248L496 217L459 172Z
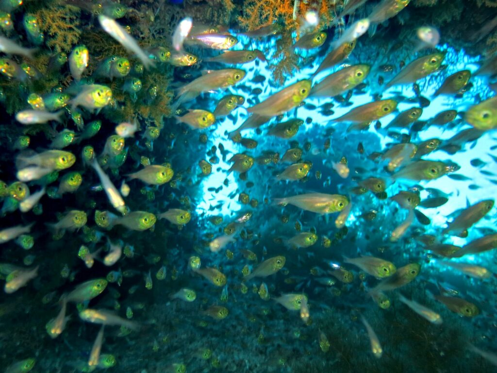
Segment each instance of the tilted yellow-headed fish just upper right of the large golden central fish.
M371 66L364 64L347 66L315 84L309 97L334 97L352 90L367 78L370 70Z

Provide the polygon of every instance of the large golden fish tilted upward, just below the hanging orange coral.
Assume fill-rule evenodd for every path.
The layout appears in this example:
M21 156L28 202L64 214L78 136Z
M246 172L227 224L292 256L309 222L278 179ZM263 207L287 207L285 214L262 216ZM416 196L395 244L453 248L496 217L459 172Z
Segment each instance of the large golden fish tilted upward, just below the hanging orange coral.
M249 113L272 117L298 106L311 92L311 81L301 80L247 108Z

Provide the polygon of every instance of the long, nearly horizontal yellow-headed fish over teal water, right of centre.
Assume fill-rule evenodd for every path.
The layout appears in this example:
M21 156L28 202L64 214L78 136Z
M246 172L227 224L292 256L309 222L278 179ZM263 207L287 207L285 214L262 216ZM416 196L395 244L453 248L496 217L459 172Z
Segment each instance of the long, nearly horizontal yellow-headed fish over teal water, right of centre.
M346 196L340 194L306 193L291 197L276 198L274 199L274 203L282 205L293 204L306 211L329 214L343 210L349 201Z

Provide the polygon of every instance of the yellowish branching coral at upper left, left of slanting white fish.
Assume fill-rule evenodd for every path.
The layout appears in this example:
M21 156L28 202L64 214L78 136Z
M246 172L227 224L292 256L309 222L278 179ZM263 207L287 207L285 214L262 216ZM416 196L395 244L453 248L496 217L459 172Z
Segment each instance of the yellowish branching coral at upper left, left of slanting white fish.
M69 53L81 36L81 9L51 1L34 15L45 33L46 45L55 52Z

